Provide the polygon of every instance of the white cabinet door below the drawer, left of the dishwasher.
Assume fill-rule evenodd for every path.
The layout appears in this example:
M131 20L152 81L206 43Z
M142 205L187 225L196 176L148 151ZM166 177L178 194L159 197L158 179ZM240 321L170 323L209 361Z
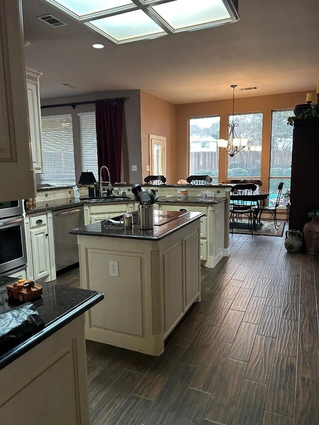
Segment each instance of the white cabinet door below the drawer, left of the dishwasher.
M47 227L30 230L33 276L37 280L50 274L50 250Z

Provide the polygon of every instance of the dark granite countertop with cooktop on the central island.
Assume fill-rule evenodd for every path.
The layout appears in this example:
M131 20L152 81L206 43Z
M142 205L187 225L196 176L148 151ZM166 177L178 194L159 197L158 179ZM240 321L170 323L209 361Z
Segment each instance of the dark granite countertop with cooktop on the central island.
M107 224L107 220L89 224L88 226L80 227L71 230L72 235L84 236L104 236L107 238L122 238L122 239L142 239L146 241L159 241L166 236L176 232L187 224L198 220L205 214L200 212L179 212L179 211L154 211L155 216L179 215L168 223L154 226L152 230L140 230L138 224L138 212L133 213L134 224L133 230L125 230L124 225ZM120 217L120 216L119 216ZM156 220L155 220L156 222Z

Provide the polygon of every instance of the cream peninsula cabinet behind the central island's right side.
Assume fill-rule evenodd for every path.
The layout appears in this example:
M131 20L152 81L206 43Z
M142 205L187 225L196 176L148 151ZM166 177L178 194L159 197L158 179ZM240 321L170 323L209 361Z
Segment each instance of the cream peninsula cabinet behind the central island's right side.
M161 211L185 209L205 214L200 219L200 260L203 266L215 267L224 256L225 201L204 205L162 202L159 207Z

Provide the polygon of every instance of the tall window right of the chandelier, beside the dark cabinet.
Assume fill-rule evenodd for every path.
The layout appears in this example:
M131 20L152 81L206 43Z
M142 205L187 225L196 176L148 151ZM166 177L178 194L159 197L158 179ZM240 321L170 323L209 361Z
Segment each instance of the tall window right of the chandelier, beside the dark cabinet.
M276 202L278 185L281 181L284 182L283 193L290 190L293 127L287 126L287 117L291 115L293 110L273 111L269 177L270 204ZM280 205L284 206L286 203L287 199L282 198Z

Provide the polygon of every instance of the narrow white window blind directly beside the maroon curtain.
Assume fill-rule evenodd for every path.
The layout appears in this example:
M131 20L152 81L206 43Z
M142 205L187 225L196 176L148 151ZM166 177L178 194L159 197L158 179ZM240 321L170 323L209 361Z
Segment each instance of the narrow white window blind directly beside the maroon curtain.
M82 171L92 171L98 181L98 148L96 141L95 112L80 112L78 117Z

